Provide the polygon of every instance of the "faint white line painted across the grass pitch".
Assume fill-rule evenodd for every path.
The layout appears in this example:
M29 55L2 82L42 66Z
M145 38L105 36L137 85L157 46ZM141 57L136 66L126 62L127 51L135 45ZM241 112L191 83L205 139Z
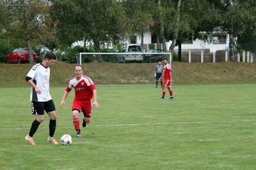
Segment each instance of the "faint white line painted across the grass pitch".
M228 123L246 123L246 122L256 122L256 120L223 120L215 122L159 122L159 123L143 123L143 124L109 124L109 125L90 125L90 127L120 127L120 126L142 126L142 125L189 125L189 124L228 124ZM70 128L73 126L58 126L57 128ZM41 127L43 129L48 129L48 127ZM0 128L3 130L19 130L19 129L30 129L30 127L13 127L13 128Z

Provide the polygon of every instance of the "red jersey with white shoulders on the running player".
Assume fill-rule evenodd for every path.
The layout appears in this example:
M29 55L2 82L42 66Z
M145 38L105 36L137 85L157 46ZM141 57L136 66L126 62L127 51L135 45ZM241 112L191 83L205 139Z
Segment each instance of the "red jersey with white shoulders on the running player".
M89 101L92 99L92 91L95 89L95 86L88 76L82 76L80 80L72 78L68 83L66 91L70 92L73 87L75 89L75 100Z

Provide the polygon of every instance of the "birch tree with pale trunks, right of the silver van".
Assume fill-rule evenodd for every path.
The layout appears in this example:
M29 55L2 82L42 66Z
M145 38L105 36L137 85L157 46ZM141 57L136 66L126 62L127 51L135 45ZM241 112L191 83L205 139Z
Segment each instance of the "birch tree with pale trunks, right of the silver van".
M179 45L181 60L181 43L191 39L207 39L202 32L211 32L215 27L215 9L207 0L158 0L158 10L152 30L160 37L161 43L172 41L168 51ZM160 18L160 19L159 19ZM204 34L205 35L205 34ZM206 34L207 35L207 34Z

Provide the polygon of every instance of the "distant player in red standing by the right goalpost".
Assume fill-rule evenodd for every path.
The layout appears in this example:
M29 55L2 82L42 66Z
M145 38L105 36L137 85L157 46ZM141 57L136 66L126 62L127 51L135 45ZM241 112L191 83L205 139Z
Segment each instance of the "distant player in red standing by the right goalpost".
M161 101L164 100L164 96L165 96L165 88L167 87L167 89L169 90L170 93L170 99L169 100L173 100L173 92L172 92L172 67L170 66L170 64L168 64L168 60L164 59L164 71L162 76L159 78L159 81L162 80L162 78L164 77L164 83L163 83L163 93L162 93L162 97L159 99Z

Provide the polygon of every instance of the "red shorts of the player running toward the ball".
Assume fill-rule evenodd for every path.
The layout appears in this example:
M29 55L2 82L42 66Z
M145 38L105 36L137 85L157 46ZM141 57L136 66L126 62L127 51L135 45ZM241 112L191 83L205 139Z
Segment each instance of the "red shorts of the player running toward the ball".
M91 117L92 102L91 101L73 101L72 111L83 111L84 117Z

